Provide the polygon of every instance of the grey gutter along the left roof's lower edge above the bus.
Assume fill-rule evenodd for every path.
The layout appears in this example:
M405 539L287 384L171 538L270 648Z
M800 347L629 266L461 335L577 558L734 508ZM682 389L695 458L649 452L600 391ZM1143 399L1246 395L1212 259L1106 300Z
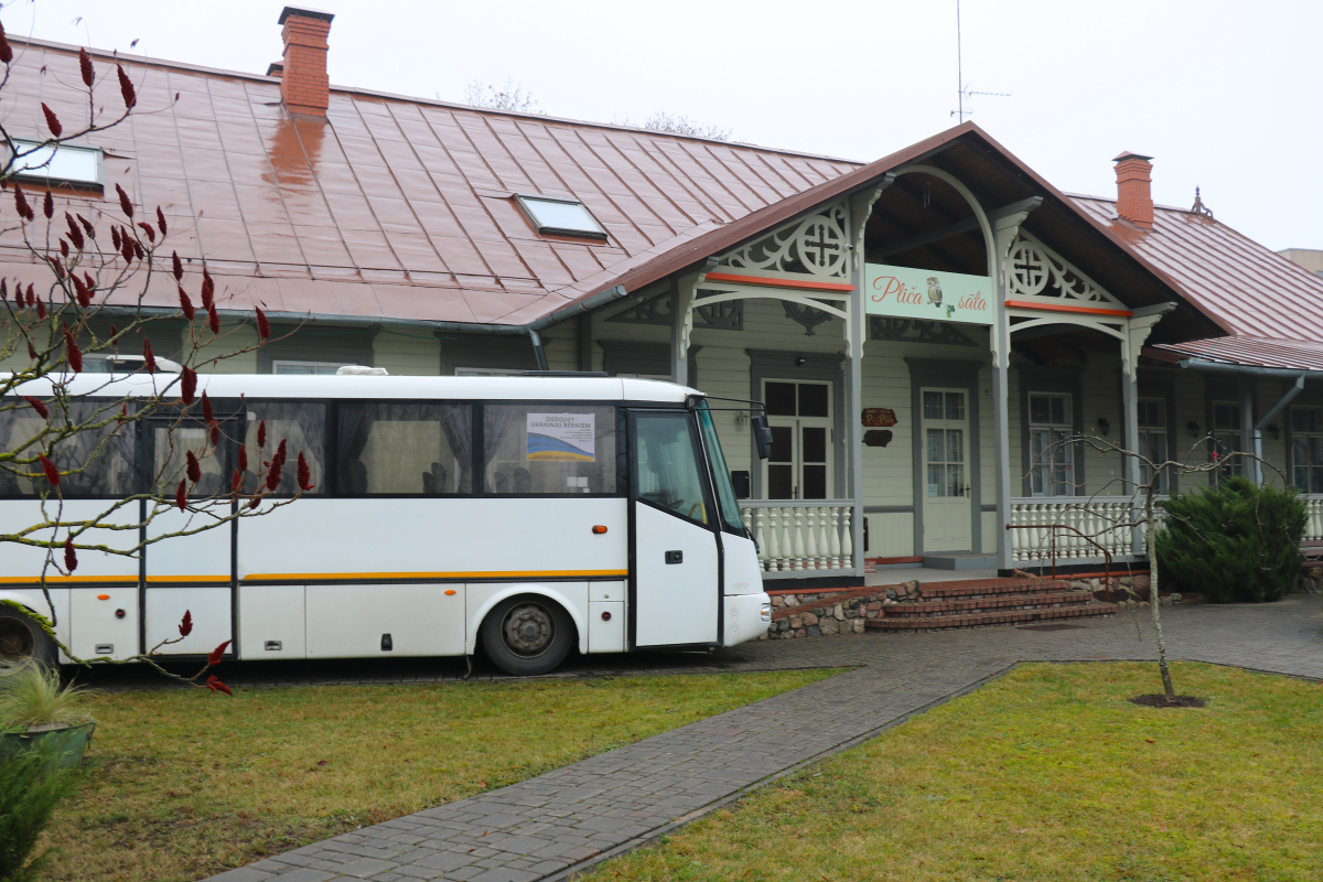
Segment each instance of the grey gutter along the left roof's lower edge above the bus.
M267 312L269 321L278 324L318 324L329 328L364 328L372 331L413 331L426 333L470 333L515 336L524 335L533 344L533 356L537 358L537 369L546 370L546 350L542 348L542 335L545 328L560 324L568 319L591 312L598 307L628 296L623 284L617 284L606 291L594 294L591 298L561 307L554 312L548 312L541 319L527 324L487 324L483 321L433 321L429 319L389 319L368 316L343 316L319 312ZM102 312L108 315L140 315L148 317L167 317L179 315L179 309L168 307L127 307L107 304ZM221 317L228 320L249 321L253 317L246 309L217 309Z

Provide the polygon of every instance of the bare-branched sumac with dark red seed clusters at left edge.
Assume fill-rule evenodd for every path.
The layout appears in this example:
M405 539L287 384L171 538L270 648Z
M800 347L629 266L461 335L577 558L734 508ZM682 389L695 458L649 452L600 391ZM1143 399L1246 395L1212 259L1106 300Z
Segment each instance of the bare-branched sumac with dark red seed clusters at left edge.
M45 73L49 52L16 54L0 26L0 100L8 98L4 106L12 111L9 118L30 120L29 134L41 139L13 141L9 149L0 151L0 190L9 190L8 198L0 201L0 229L11 235L12 253L4 261L11 266L0 272L0 324L8 350L28 356L25 364L20 357L9 373L0 374L0 402L8 402L0 403L0 411L19 411L13 421L19 428L0 446L0 481L22 481L41 501L42 512L41 524L29 529L13 525L12 532L0 533L0 542L42 550L41 569L30 577L40 582L50 610L45 624L60 625L67 623L60 623L58 606L50 603L48 577L75 570L87 575L90 561L103 554L140 558L155 542L263 516L308 492L312 475L307 456L288 451L298 456L298 465L291 467L296 489L274 497L291 484L284 473L288 446L273 438L277 446L270 463L263 463L259 452L251 458L254 471L249 471L251 451L239 446L230 487L224 487L224 480L216 487L204 480L206 475L224 476L222 468L230 465L228 444L239 439L226 438L232 417L218 413L198 374L224 370L226 360L259 348L271 328L266 315L255 311L257 342L222 345L217 280L194 251L185 250L181 257L179 234L172 235L192 229L197 218L167 217L167 206L143 204L136 197L143 192L139 179L110 161L103 169L106 192L95 197L65 186L34 189L30 182L20 184L21 172L40 173L44 160L61 144L110 143L115 139L103 136L106 130L123 124L142 108L155 112L168 106L163 94L139 94L143 74L135 71L142 69L131 62L101 61L85 49L53 52L67 56L67 75L60 75L60 87L53 85L54 90L40 95L17 94L17 83L30 82L38 67ZM32 70L16 74L22 65ZM196 243L188 241L187 247L194 249ZM153 271L168 278L175 291L168 283L161 287L153 282ZM198 315L202 312L205 319ZM164 357L152 350L153 340ZM164 340L171 344L160 349ZM130 354L139 350L140 358ZM111 373L97 372L97 360L108 361ZM136 377L122 385L126 373ZM134 394L122 391L130 387ZM200 406L197 398L202 399ZM243 431L242 418L233 419L234 427ZM108 463L106 458L118 455L122 439L140 436L147 426L155 443L177 454L160 458L156 472L143 476L140 492L124 491L123 499L111 495L79 500L74 520L65 496L73 488L87 487L97 463ZM198 427L202 434L197 434ZM259 451L271 451L265 424L258 434ZM111 526L114 532L107 529ZM107 541L107 536L112 538ZM91 550L98 554L86 558L83 553ZM85 557L82 567L79 557ZM180 677L157 662L157 653L168 643L197 637L192 614L185 614L177 637L130 659L83 660L62 644L61 651L83 665L144 662L167 677L229 694L229 686L213 670L228 644L217 647L192 677Z

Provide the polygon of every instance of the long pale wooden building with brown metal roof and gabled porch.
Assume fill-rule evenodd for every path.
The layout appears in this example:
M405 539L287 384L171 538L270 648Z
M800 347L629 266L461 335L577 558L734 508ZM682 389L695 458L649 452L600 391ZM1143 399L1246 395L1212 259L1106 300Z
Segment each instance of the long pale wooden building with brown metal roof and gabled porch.
M968 123L860 164L332 87L332 19L286 8L267 75L128 65L152 112L62 148L95 179L32 176L161 205L185 287L216 279L217 352L263 305L274 339L209 369L586 370L763 402L770 459L750 406L720 432L787 584L1009 570L1053 536L1062 565L1142 561L1111 526L1148 480L1121 448L1216 463L1162 492L1242 473L1323 500L1323 279L1201 202L1155 206L1151 157L1085 197ZM26 44L17 93L74 118L77 63ZM4 237L0 263L40 278ZM171 356L191 331L160 276Z

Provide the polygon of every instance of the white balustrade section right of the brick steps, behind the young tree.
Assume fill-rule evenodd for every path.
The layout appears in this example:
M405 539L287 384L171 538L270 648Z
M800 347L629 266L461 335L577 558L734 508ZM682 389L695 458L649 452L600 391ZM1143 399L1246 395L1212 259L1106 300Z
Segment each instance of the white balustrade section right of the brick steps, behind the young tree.
M1142 502L1129 496L1065 496L1011 500L1011 554L1016 561L1050 561L1056 534L1056 558L1102 558L1102 551L1089 537L1114 558L1134 554L1132 524L1143 517ZM1162 524L1159 510L1158 522ZM1072 529L1052 529L1058 524Z

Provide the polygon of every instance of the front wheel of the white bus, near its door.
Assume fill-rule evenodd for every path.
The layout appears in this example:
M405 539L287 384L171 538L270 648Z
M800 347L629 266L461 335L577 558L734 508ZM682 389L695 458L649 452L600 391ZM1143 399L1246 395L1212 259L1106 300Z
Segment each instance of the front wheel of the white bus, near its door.
M576 641L574 620L561 604L534 594L508 598L483 619L483 649L516 677L554 670Z

